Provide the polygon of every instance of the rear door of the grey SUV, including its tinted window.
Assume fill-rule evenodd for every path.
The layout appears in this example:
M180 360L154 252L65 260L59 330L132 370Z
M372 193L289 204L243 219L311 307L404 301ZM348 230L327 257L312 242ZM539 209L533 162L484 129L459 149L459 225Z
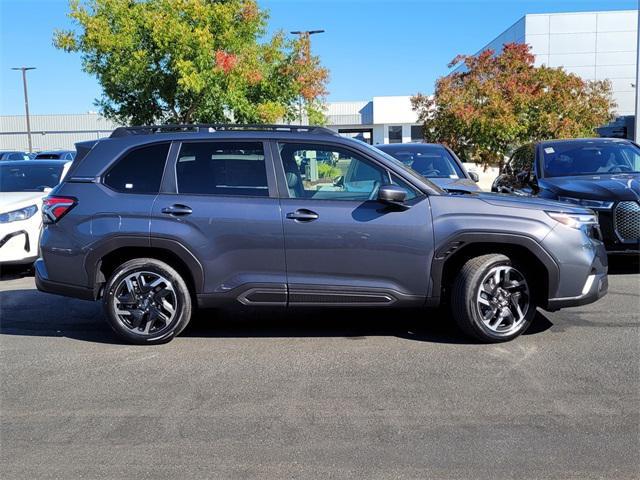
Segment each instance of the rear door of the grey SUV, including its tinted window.
M262 141L174 144L153 207L152 245L174 242L202 269L201 304L285 304L284 237Z

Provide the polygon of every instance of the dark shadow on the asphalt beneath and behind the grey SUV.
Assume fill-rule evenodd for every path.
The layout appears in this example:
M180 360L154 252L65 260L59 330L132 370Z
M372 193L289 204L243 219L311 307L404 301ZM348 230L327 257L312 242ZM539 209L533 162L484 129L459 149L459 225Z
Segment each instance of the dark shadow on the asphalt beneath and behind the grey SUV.
M538 312L525 335L553 324ZM0 333L66 337L122 344L104 320L98 302L76 300L37 290L0 292ZM198 311L181 334L187 338L303 338L394 336L427 343L477 344L455 327L443 309L229 309Z

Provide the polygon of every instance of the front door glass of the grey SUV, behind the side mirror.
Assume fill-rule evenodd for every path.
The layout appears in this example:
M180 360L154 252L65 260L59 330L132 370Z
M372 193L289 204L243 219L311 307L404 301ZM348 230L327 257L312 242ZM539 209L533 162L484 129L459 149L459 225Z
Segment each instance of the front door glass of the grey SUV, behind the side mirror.
M280 144L280 157L292 198L314 200L370 200L388 172L341 147Z

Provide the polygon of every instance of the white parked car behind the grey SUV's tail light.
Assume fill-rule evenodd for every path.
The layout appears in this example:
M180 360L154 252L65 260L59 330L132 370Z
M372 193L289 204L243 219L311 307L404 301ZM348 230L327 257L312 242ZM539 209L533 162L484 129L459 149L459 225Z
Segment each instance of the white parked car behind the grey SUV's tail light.
M0 162L0 264L38 257L42 199L64 178L69 160Z

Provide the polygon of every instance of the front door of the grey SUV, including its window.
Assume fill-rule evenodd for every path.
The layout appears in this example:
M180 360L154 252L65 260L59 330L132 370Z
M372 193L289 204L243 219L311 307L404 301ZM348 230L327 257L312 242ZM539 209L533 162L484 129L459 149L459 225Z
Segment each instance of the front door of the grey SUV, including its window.
M272 149L289 304L424 302L433 248L428 198L355 148L274 142ZM407 208L377 201L378 188L392 182L407 190Z

